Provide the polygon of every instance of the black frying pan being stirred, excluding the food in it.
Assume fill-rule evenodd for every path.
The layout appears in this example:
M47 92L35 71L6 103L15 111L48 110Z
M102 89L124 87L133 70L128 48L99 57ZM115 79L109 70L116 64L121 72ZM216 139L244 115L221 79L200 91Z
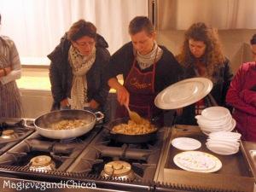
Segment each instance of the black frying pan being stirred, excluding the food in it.
M141 135L125 135L125 134L117 133L112 130L113 126L119 125L119 124L126 124L128 120L129 118L120 118L110 122L110 124L108 125L108 129L109 129L111 139L119 143L148 143L149 141L156 139L157 131L159 130L159 128L153 132L150 132L147 134L141 134ZM156 125L156 127L158 126Z

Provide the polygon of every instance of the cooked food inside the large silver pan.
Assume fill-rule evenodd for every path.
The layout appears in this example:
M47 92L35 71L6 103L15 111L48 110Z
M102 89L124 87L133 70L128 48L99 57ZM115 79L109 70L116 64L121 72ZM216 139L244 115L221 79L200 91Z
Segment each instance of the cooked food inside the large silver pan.
M71 130L77 127L88 125L84 119L63 119L50 125L53 130Z

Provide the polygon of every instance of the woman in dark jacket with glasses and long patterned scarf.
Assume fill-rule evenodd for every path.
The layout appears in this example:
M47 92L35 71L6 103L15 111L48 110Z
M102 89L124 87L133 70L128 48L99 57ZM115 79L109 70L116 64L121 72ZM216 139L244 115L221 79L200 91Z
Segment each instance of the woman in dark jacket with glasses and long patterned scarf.
M61 38L48 57L54 99L52 110L61 108L104 111L109 87L104 77L110 54L108 43L96 26L79 20Z

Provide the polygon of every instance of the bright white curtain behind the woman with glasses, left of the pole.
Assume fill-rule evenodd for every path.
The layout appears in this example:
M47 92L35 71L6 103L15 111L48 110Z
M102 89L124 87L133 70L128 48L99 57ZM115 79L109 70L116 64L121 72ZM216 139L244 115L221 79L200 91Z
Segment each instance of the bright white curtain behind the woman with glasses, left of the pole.
M148 0L0 0L0 14L0 34L15 41L20 57L46 57L79 19L94 23L113 53L130 40L130 20L148 15Z

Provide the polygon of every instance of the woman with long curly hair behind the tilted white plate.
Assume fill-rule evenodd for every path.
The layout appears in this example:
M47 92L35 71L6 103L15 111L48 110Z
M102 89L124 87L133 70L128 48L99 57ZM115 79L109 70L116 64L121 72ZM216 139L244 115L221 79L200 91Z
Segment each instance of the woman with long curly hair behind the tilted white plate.
M225 96L233 73L230 61L224 56L218 41L218 31L205 23L195 23L185 32L182 51L177 61L184 68L184 78L203 77L211 79L211 93L178 112L178 124L196 125L195 115L213 105L227 107Z

